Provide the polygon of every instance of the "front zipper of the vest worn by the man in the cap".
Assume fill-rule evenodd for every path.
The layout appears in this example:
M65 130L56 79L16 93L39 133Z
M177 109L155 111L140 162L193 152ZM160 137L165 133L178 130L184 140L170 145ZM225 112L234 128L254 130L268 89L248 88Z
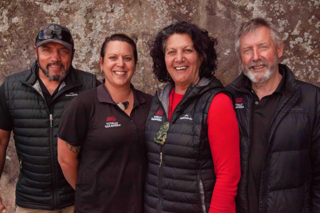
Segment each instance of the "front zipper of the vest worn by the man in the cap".
M53 198L54 198L54 209L57 210L58 209L58 202L57 202L57 183L56 183L56 174L55 174L55 164L54 164L54 145L53 145L53 127L52 127L52 114L50 112L49 106L46 103L44 97L32 86L26 84L23 81L19 81L21 83L23 83L24 85L27 85L28 87L32 88L34 91L36 91L36 93L44 100L44 105L46 106L47 110L49 111L50 115L49 115L49 121L50 121L50 136L49 136L49 141L50 141L50 149L51 149L51 163L52 163L52 179L53 179ZM22 165L21 165L22 167Z

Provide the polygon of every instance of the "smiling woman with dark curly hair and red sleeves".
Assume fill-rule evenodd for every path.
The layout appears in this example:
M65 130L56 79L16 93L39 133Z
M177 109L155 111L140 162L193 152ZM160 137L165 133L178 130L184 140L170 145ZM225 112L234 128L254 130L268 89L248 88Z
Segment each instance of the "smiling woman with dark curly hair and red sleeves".
M144 212L235 212L239 132L217 69L217 40L180 22L152 43L160 82L146 122ZM228 151L227 151L228 150Z

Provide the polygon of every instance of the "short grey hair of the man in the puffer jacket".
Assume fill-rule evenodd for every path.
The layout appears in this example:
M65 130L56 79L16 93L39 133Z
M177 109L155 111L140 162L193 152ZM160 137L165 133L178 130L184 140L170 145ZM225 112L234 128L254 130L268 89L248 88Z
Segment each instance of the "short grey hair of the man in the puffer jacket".
M276 47L282 41L281 36L277 28L268 20L262 18L251 19L241 24L235 39L235 51L236 55L240 56L240 38L247 33L251 33L260 27L268 27L271 32L271 38L275 42Z

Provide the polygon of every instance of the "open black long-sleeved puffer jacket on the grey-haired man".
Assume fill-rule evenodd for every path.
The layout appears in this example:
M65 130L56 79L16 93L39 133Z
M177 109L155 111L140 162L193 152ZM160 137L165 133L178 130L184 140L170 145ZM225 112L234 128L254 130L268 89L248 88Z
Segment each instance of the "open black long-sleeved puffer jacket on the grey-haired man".
M271 121L266 160L261 175L259 212L320 212L320 89L296 80L289 67L285 95ZM252 94L241 74L226 88L235 104L240 131L241 179L236 212L249 212L248 156L251 145ZM239 100L239 99L238 99ZM254 212L255 213L255 212Z

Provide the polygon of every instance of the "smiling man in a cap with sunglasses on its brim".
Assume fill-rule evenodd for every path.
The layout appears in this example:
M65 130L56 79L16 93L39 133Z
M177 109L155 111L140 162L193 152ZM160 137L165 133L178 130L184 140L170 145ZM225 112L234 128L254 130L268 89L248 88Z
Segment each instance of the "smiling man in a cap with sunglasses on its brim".
M0 176L13 131L20 163L16 213L73 212L74 190L57 159L58 125L63 107L100 82L72 67L75 50L67 27L42 27L34 50L30 69L6 77L0 86ZM0 211L7 211L1 197Z

